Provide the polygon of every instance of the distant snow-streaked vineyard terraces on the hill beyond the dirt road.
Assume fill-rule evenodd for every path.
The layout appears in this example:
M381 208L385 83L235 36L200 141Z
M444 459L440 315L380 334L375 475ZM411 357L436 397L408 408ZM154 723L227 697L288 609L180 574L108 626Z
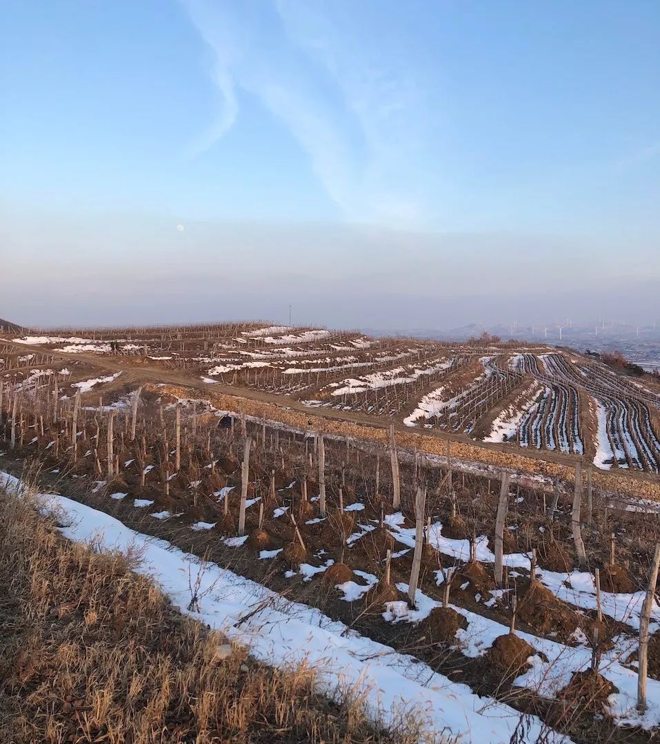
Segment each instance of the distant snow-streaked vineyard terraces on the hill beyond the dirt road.
M37 391L57 379L60 394L82 384L117 403L138 371L148 378L153 370L190 385L274 394L348 420L366 416L582 457L602 469L660 469L657 387L549 347L370 339L254 322L15 330L4 339L5 388Z

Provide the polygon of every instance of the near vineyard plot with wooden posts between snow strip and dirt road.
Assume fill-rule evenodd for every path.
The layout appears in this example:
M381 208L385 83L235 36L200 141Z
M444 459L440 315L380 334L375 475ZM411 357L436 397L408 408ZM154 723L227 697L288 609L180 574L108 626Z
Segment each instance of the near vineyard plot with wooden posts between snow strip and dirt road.
M223 428L208 405L180 403L162 388L136 394L123 410L88 409L75 399L55 405L53 393L4 391L5 458L33 458L67 493L304 597L574 740L647 737L616 722L652 725L656 711L660 667L650 665L650 713L641 718L634 661L637 591L647 583L660 527L644 514L613 510L591 479L580 520L582 565L570 487L556 492L555 504L551 489L510 489L497 472L459 475L449 463L439 468L415 457L395 458L395 469L396 445L388 452L353 438L324 442L258 417L235 417ZM90 483L94 493L86 495ZM508 516L496 539L502 494ZM595 568L602 618L586 580ZM402 605L384 612L386 602L412 609L397 617ZM660 609L653 613L655 634ZM575 702L581 697L587 705Z

